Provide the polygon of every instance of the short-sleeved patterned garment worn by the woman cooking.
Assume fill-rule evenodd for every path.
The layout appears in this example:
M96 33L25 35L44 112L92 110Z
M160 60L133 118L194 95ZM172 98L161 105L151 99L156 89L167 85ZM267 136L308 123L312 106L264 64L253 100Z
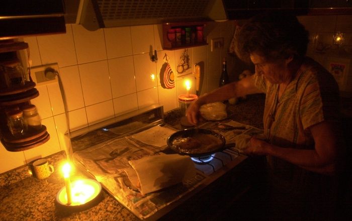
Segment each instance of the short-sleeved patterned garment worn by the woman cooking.
M278 84L271 84L257 74L254 84L266 93L263 124L265 135L273 145L314 149L309 127L322 121L338 121L338 85L333 76L311 58L304 59L280 99ZM308 175L316 175L277 157L269 156L268 163L279 185L286 184L296 190L309 182Z

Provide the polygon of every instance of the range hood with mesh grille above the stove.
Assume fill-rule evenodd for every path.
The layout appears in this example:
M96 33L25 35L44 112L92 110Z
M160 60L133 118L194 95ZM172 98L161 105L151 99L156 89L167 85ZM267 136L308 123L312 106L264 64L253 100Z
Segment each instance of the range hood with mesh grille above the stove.
M87 30L225 20L222 0L81 0L76 23Z

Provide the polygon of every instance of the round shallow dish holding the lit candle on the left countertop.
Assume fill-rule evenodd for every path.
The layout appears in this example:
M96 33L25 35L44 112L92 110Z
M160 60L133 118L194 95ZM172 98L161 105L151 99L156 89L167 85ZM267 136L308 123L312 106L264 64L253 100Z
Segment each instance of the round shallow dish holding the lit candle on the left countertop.
M79 179L71 183L71 202L68 203L66 186L56 195L56 205L70 211L89 209L100 202L102 185L93 179Z

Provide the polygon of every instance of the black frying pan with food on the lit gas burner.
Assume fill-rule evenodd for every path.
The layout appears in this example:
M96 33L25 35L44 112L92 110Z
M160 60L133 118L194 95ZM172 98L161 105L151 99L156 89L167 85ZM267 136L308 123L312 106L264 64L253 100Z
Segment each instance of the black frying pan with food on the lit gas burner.
M178 141L181 139L195 139L201 145L192 149L185 149ZM199 139L207 138L207 139ZM177 140L178 139L178 140ZM198 140L199 139L199 140ZM210 140L214 141L214 145L210 144ZM207 129L184 129L172 134L167 138L167 145L180 155L188 155L191 157L209 156L213 153L223 151L229 147L234 147L234 143L226 144L224 136Z

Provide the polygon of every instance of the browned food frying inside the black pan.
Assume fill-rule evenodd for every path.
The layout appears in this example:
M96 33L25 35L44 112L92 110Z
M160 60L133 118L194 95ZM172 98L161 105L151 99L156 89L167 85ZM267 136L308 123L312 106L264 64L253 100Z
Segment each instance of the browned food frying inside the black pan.
M211 134L196 133L192 137L179 137L172 141L172 146L185 153L207 153L223 146L222 140Z

